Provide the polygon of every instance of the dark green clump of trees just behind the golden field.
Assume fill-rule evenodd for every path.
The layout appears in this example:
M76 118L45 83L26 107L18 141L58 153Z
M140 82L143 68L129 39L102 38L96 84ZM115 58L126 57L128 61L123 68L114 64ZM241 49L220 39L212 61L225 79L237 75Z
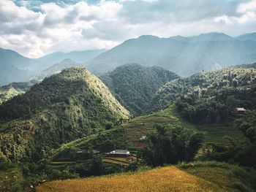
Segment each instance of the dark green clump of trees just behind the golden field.
M191 161L203 142L203 134L182 126L157 125L157 133L148 135L141 156L151 166Z

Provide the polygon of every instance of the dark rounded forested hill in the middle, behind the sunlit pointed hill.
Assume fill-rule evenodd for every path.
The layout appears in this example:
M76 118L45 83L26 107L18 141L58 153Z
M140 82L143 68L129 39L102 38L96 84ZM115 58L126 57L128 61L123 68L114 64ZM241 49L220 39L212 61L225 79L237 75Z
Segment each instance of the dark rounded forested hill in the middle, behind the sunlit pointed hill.
M138 64L118 66L100 79L110 88L118 101L133 115L147 112L156 91L178 75L159 66Z

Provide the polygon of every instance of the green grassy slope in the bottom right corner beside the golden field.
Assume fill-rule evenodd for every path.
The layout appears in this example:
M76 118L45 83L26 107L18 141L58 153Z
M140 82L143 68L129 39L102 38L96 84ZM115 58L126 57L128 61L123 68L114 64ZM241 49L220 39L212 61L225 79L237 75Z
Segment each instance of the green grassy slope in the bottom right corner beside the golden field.
M180 164L178 168L197 177L216 183L226 191L254 191L255 170L216 161Z

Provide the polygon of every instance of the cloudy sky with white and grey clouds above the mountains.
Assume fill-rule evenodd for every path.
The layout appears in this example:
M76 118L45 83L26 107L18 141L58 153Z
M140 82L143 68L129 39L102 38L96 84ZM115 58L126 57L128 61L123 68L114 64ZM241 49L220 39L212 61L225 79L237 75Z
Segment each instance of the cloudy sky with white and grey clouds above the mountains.
M0 47L38 58L126 39L256 31L256 0L0 0Z

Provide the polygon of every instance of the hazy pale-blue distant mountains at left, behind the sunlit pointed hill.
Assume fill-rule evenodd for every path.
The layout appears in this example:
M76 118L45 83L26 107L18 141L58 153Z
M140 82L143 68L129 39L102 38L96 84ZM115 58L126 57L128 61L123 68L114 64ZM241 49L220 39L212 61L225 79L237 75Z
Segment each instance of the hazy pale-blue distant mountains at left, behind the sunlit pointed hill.
M105 50L73 51L70 53L52 53L42 58L26 58L23 55L0 47L0 85L10 82L24 82L31 77L38 76L53 64L66 58L84 63ZM60 66L61 69L63 69ZM56 69L56 67L55 67ZM61 70L59 69L59 70Z

